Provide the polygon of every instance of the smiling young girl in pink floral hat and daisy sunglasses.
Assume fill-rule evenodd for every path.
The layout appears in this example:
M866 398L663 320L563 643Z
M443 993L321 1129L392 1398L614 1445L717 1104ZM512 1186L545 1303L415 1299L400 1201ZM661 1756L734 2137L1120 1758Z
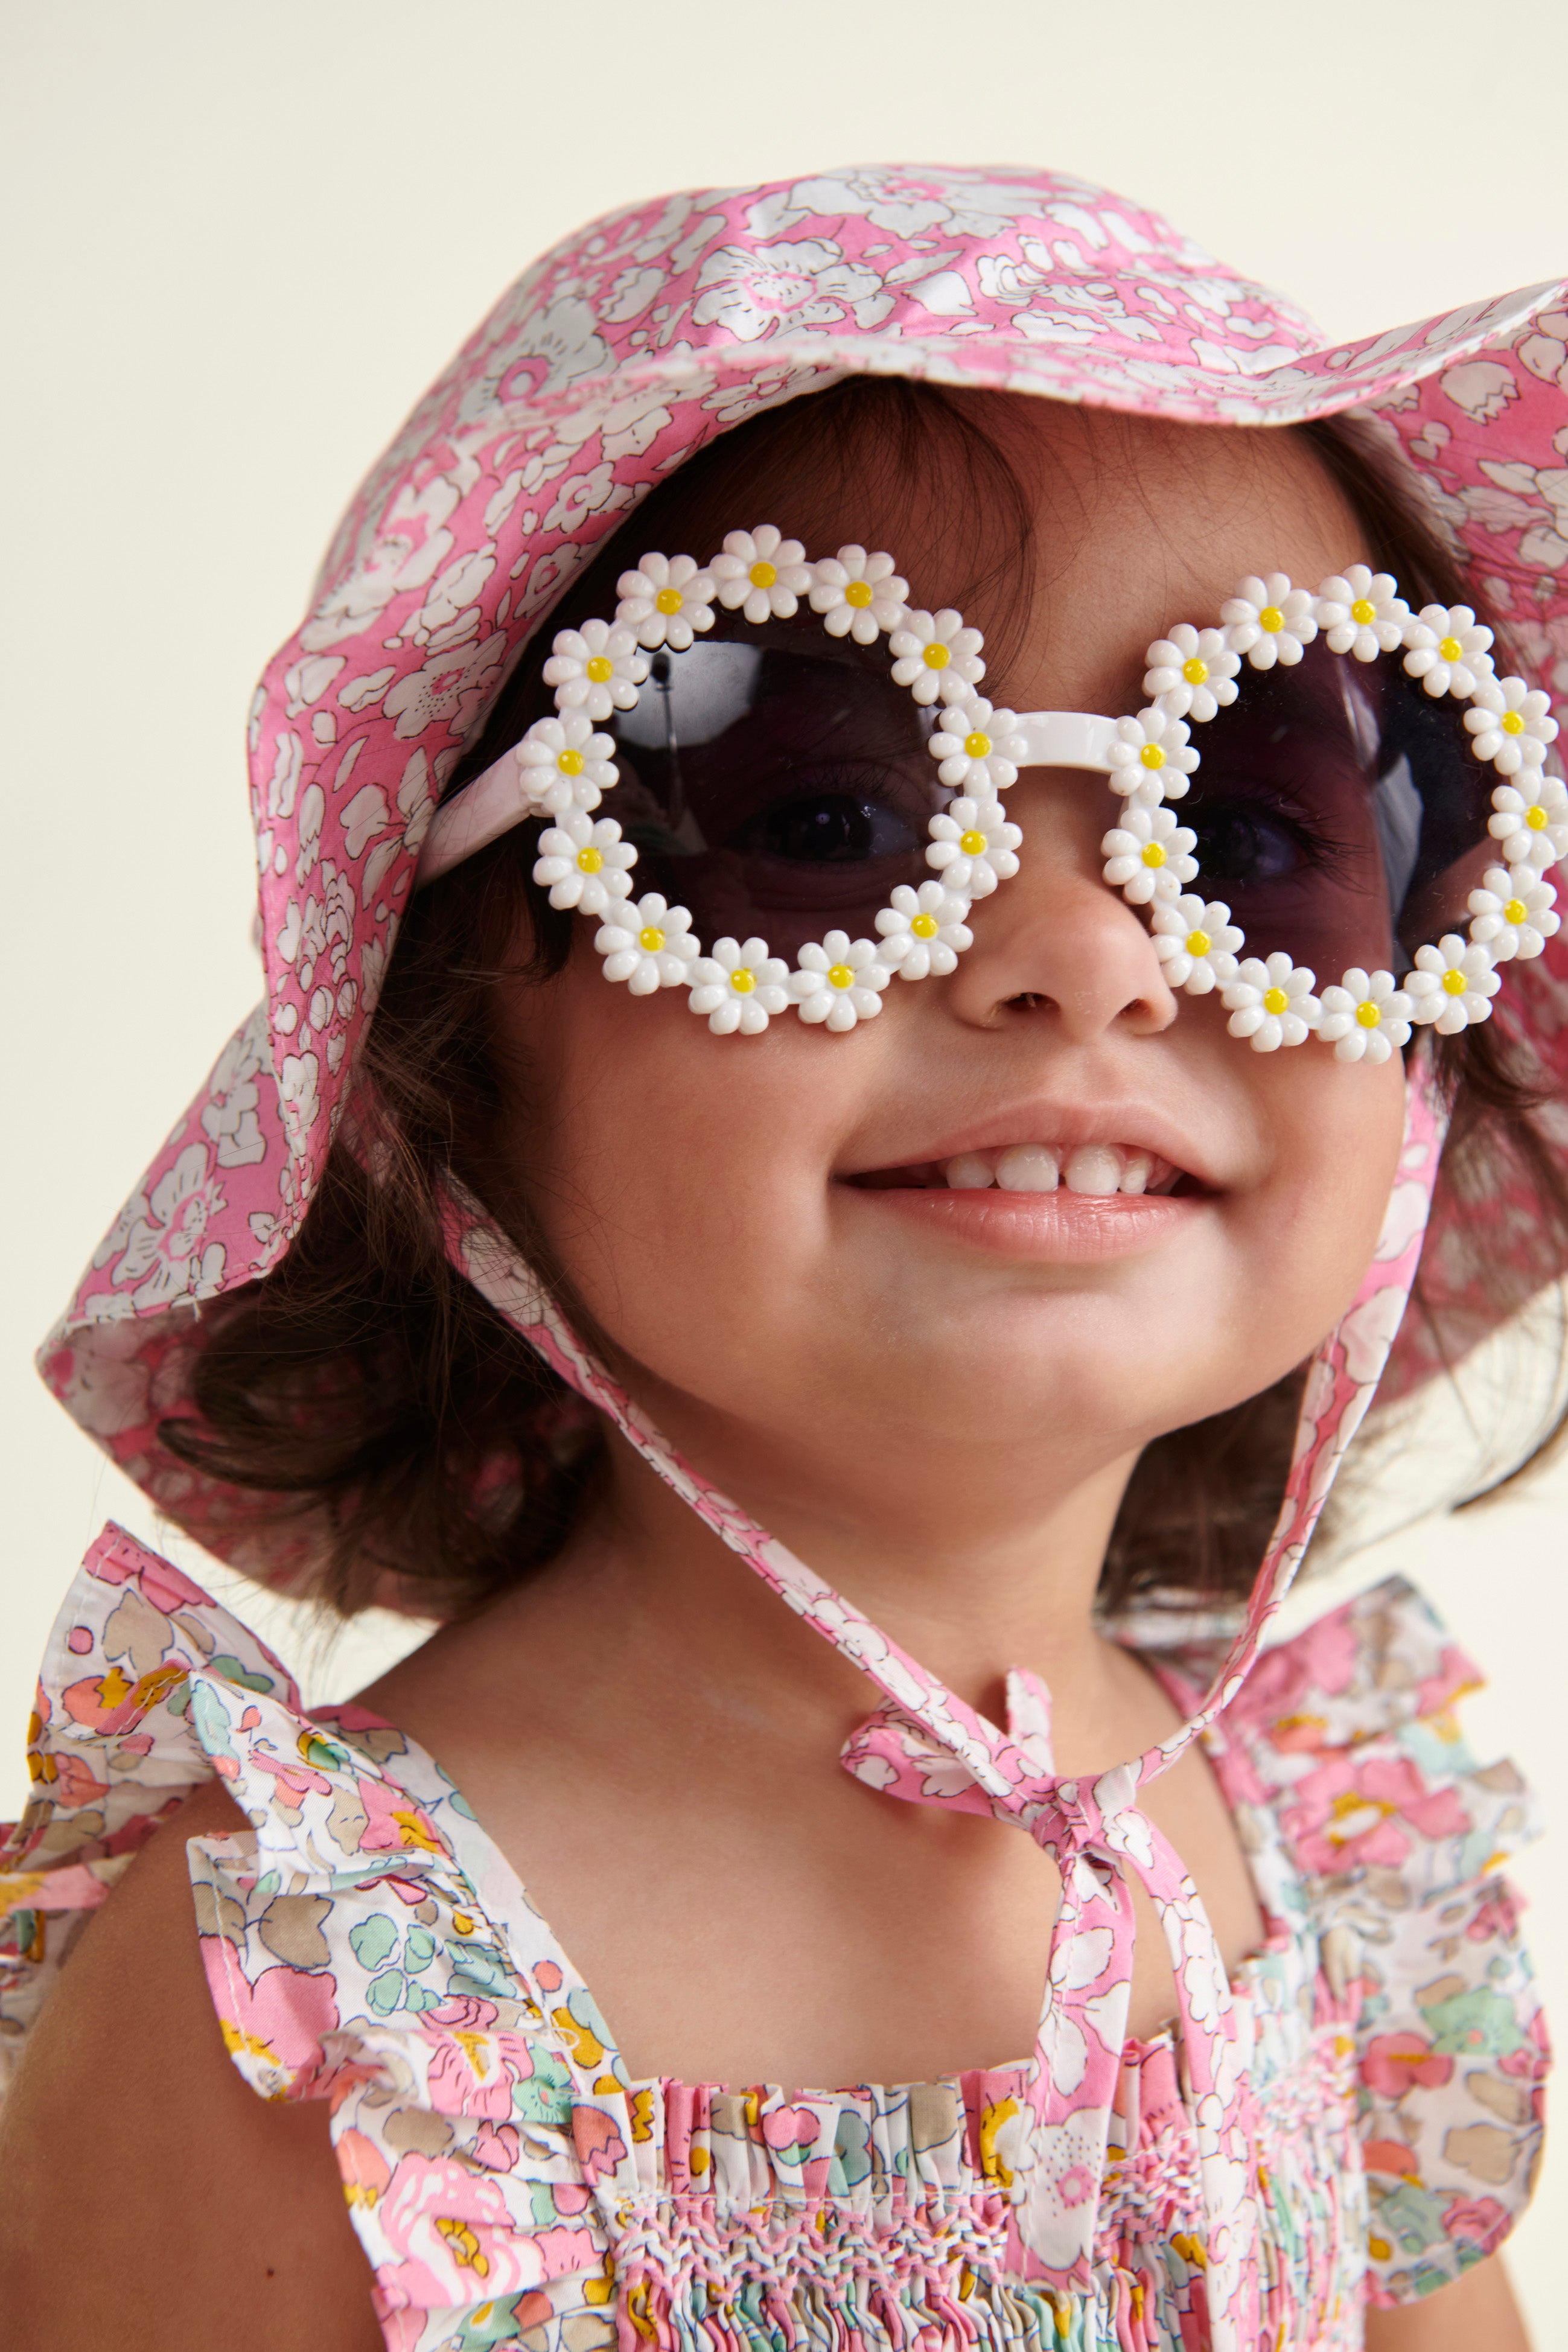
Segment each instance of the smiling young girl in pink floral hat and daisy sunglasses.
M268 1002L42 1362L442 1630L306 1715L89 1552L16 2340L1523 2343L1528 1797L1406 1585L1260 1637L1389 1350L1568 1263L1556 299L1321 350L846 174L418 405L254 703Z

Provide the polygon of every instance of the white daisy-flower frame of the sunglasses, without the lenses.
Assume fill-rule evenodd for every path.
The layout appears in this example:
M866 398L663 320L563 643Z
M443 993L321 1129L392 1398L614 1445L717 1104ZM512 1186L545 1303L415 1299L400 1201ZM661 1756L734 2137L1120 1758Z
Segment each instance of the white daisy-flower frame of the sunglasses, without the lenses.
M527 818L555 818L538 840L534 882L550 891L550 906L597 920L604 978L632 995L686 988L691 1011L719 1037L762 1035L790 1009L842 1035L882 1011L893 978L954 971L973 946L976 901L1018 873L1023 830L1001 795L1023 767L1081 767L1107 779L1124 802L1100 844L1107 887L1147 910L1168 985L1185 995L1218 990L1232 1037L1260 1054L1319 1037L1340 1061L1380 1063L1408 1044L1415 1025L1453 1035L1490 1016L1497 967L1540 955L1559 929L1547 873L1568 854L1568 790L1544 774L1559 731L1549 699L1521 677L1495 675L1493 633L1467 604L1415 614L1387 572L1349 564L1316 590L1284 572L1248 576L1220 607L1218 626L1178 623L1150 644L1150 701L1119 720L994 708L978 691L980 630L950 607L910 607L893 557L860 546L806 560L797 539L762 524L729 532L708 564L644 555L616 588L614 621L555 635L543 668L555 717L536 720L437 811L418 882ZM802 600L830 637L884 642L893 682L919 706L936 706L940 727L926 748L957 797L929 823L931 880L891 891L875 917L879 936L827 931L799 950L790 971L764 938L719 938L703 955L684 906L635 896L637 849L611 816L595 814L618 781L616 743L597 727L635 708L654 652L684 652L712 628L715 604L762 626L792 619ZM1418 948L1399 983L1392 971L1349 967L1321 995L1316 974L1288 955L1241 955L1246 938L1229 906L1194 889L1197 835L1171 809L1201 764L1192 727L1237 701L1241 666L1293 666L1319 635L1345 659L1401 654L1429 696L1465 703L1472 753L1500 776L1488 818L1500 863L1469 894L1469 936L1446 931Z

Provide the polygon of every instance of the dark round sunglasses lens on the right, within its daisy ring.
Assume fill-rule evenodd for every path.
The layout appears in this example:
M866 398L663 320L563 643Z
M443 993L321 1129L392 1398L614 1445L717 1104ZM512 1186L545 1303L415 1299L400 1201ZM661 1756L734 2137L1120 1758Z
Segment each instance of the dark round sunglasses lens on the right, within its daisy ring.
M1237 682L1192 729L1201 764L1175 809L1199 837L1192 889L1229 903L1248 955L1284 948L1321 983L1349 964L1401 974L1495 863L1497 779L1469 750L1467 706L1427 696L1396 656L1361 663L1321 640Z

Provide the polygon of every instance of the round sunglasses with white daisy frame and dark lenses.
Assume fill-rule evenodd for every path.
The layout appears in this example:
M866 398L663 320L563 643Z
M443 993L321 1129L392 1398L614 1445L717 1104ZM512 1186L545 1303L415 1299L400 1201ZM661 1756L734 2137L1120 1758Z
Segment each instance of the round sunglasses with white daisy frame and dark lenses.
M715 1035L851 1030L973 943L1027 856L1020 769L1084 769L1114 795L1107 887L1255 1051L1375 1063L1486 1021L1497 967L1559 929L1568 793L1547 696L1497 677L1474 612L1410 612L1366 564L1274 572L1145 659L1133 715L1016 713L891 555L811 562L771 524L644 555L611 621L555 635L538 715L437 811L418 880L543 818L534 880L611 983L684 988Z

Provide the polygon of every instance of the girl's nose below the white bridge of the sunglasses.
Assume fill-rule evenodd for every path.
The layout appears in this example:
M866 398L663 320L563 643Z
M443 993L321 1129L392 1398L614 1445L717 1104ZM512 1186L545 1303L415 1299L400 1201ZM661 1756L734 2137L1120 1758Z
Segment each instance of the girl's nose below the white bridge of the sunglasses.
M1100 842L1121 802L1081 769L1030 769L1004 807L1023 828L1018 873L969 915L976 943L947 983L952 1011L976 1028L1044 1014L1067 1044L1171 1028L1175 997L1150 929L1103 880Z

